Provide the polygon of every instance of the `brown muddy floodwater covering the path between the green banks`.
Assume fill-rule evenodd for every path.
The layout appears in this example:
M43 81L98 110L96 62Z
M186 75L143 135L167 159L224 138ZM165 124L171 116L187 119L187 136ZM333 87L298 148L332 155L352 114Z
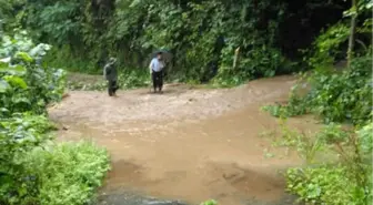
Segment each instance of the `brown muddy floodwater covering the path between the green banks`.
M60 141L89 139L110 152L112 171L100 191L101 204L214 198L222 205L285 205L292 197L281 171L302 162L263 136L276 133L278 123L260 107L286 100L294 82L279 76L224 90L170 84L162 95L140 89L119 92L117 99L74 91L50 116L65 127ZM290 125L315 126L312 119Z

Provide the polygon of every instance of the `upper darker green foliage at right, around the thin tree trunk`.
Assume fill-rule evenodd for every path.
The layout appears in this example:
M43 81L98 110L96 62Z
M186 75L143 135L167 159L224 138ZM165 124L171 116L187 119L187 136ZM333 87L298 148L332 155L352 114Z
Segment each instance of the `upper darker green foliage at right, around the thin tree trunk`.
M367 22L369 19L365 19L357 33L371 37L373 32ZM367 47L361 42L365 50L352 61L351 68L343 71L340 71L341 68L334 69L337 59L345 57L341 48L349 35L350 28L340 22L317 37L309 51L310 55L304 58L314 71L302 76L293 88L288 104L265 106L263 110L274 116L314 113L325 123L347 121L364 124L373 107L373 58ZM299 94L303 90L306 93Z

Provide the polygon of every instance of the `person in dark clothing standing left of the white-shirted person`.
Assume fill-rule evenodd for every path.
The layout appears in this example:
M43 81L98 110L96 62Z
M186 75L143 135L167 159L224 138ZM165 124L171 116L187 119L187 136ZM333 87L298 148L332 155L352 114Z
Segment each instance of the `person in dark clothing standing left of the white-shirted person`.
M103 68L103 75L108 81L109 96L117 96L118 90L118 71L115 66L117 59L110 58L109 62Z

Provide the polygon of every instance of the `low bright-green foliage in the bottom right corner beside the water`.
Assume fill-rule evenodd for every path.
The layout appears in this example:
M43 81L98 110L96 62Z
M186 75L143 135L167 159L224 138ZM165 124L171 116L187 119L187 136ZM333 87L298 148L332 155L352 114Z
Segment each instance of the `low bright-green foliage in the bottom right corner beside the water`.
M285 129L289 133L289 129ZM340 125L327 125L319 134L304 141L304 135L292 131L284 135L283 145L294 146L300 153L314 151L306 167L289 168L288 191L311 204L370 204L373 188L372 123L356 131L343 130ZM301 139L301 140L299 140ZM304 143L312 139L314 144ZM291 143L289 143L291 142ZM337 161L317 160L320 154L335 155ZM310 155L309 155L310 156ZM331 157L331 156L329 156ZM365 158L365 160L364 160ZM311 164L310 164L311 163Z

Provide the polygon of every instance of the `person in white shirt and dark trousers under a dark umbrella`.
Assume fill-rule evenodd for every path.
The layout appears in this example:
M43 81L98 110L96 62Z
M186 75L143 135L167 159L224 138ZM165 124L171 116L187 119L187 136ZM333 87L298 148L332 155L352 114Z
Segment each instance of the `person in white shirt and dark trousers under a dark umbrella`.
M163 68L164 62L162 60L162 52L159 52L157 53L157 58L153 58L149 65L150 73L152 75L154 93L157 92L157 89L159 89L159 92L162 93Z

